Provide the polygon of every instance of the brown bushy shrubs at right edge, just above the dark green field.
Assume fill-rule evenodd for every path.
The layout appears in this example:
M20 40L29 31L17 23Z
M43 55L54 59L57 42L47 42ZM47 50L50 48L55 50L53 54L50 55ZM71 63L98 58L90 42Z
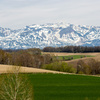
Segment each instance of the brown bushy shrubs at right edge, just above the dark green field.
M100 61L96 61L95 59L89 59L86 62L83 60L79 60L77 63L77 72L83 72L84 74L100 74Z

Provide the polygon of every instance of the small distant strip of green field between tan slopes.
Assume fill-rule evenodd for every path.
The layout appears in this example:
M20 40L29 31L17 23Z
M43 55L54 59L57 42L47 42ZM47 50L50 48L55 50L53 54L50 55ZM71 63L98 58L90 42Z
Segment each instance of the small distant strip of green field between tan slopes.
M84 57L93 57L91 55L70 55L70 56L57 56L59 60L68 60L71 57L73 59L79 59L79 58L84 58Z

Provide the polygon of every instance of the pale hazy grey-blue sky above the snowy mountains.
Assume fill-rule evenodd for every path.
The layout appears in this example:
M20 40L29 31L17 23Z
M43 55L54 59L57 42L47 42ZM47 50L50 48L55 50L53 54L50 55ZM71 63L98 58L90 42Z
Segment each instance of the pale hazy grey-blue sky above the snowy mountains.
M100 0L0 0L0 27L52 22L100 26Z

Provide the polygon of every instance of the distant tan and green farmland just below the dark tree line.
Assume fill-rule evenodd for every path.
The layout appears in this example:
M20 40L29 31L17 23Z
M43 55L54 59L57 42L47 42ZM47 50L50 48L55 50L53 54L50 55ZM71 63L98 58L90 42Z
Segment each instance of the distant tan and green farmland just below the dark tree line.
M43 54L50 54L54 56L58 56L61 59L64 57L72 57L74 56L75 59L65 61L66 63L72 64L73 67L76 68L77 63L79 60L83 60L84 62L88 62L89 59L95 59L96 61L100 61L100 53L63 53L63 52L43 52ZM80 58L81 56L86 56L83 58Z

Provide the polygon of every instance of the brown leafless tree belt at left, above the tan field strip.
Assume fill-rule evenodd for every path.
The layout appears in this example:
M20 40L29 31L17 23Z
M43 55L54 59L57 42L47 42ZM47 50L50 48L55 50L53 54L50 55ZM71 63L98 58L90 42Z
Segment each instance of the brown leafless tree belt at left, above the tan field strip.
M37 48L26 50L0 50L0 64L38 67L53 62L49 54L41 54Z

